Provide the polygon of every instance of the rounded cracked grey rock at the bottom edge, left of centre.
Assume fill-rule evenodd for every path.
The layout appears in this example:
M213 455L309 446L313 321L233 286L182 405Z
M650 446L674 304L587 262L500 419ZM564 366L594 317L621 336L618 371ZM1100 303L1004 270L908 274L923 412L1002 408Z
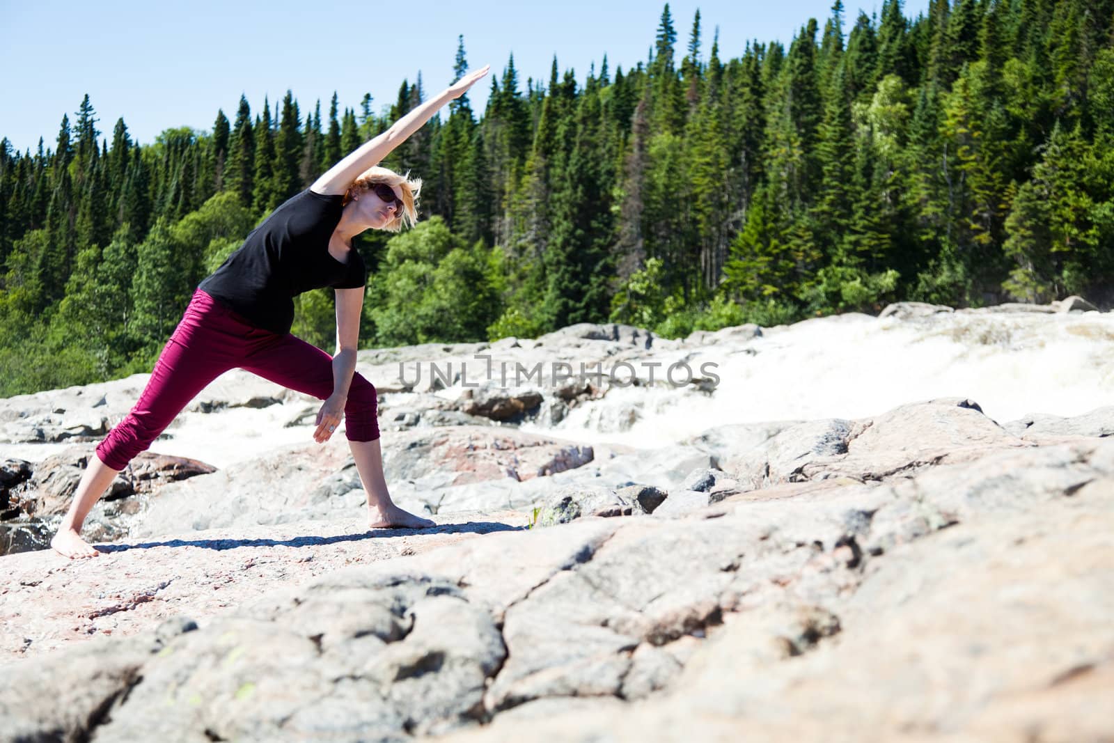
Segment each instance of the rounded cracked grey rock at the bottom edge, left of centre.
M446 732L480 714L505 655L490 615L449 583L334 579L170 639L92 740Z

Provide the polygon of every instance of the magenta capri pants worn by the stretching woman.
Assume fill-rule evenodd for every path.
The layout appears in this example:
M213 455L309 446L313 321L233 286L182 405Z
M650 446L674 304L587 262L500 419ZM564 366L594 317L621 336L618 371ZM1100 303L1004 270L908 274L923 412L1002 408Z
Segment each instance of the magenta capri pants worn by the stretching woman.
M139 401L97 447L100 461L123 470L206 384L236 368L322 400L333 393L332 356L290 333L256 327L197 290ZM379 438L375 388L360 374L352 375L344 419L350 441Z

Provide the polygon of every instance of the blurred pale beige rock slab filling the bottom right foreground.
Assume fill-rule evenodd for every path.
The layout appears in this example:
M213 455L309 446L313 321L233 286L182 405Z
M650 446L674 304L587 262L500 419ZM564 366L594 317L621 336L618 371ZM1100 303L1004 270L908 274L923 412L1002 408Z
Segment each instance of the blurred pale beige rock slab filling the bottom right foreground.
M1112 564L1104 478L898 547L830 610L726 614L651 700L550 697L442 740L1111 740ZM794 644L794 628L811 647Z

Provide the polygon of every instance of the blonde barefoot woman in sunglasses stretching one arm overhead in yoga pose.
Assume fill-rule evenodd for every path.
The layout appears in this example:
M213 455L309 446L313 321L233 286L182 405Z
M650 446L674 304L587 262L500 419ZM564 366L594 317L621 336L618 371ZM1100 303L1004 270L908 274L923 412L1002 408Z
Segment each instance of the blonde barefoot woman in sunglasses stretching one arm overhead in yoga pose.
M371 528L433 526L395 506L387 490L375 388L354 373L367 272L352 238L372 227L398 231L403 223L413 224L421 182L375 166L487 71L485 67L461 78L334 165L275 209L202 282L139 401L89 458L50 542L56 551L71 558L100 554L80 536L89 509L189 400L237 366L324 400L313 432L319 443L348 418L345 433L368 492ZM334 356L290 334L293 296L323 286L336 290Z

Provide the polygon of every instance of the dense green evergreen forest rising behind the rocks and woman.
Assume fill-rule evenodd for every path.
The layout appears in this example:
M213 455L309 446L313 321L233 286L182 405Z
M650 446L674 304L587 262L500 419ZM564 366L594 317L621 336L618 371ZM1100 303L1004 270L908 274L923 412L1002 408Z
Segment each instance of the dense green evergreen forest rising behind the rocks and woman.
M846 26L850 26L846 30ZM846 35L846 42L844 42ZM788 49L678 47L582 84L494 77L387 163L426 222L361 242L367 345L607 319L680 335L911 299L978 305L1114 277L1114 0L932 0L809 20ZM705 48L707 51L705 52ZM467 70L463 42L456 74ZM146 370L194 286L271 209L423 98L380 115L291 92L213 130L0 143L0 395ZM332 342L332 299L295 332Z

